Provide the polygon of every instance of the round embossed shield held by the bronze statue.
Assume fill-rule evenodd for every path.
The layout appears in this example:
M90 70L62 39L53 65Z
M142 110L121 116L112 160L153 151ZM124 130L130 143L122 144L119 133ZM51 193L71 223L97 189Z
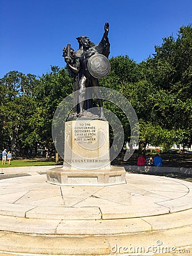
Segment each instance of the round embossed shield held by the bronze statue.
M105 77L110 72L110 62L105 55L100 53L94 54L90 57L87 63L90 74L99 79Z

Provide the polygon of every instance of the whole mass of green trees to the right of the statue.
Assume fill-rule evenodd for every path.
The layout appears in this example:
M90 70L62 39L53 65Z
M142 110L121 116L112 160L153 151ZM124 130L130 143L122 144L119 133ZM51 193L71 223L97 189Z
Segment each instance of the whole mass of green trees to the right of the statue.
M191 31L191 26L183 26L176 39L163 38L153 57L139 64L128 56L110 59L111 72L101 85L118 90L131 102L142 124L140 151L145 150L147 143L164 144L164 148L173 143L191 144ZM119 109L108 105L122 121L127 140L127 119Z

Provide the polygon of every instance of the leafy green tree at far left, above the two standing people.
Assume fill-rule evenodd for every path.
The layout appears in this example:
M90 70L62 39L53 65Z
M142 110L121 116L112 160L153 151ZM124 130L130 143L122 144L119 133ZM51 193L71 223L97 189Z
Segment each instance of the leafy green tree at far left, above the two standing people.
M38 125L34 115L36 113L36 101L32 98L32 88L36 82L36 77L25 76L18 71L11 71L1 79L3 90L1 98L1 134L11 148L12 155L16 155L16 150L28 145L28 138L33 133L35 140L35 123ZM32 124L31 118L34 120ZM23 133L25 135L23 135ZM23 138L19 142L19 139ZM6 146L6 145L5 145Z

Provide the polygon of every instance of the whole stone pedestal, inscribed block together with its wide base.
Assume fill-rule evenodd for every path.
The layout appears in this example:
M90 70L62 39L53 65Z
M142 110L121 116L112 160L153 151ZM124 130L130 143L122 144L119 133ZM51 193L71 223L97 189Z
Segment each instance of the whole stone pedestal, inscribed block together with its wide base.
M108 122L77 120L65 123L63 167L47 171L57 185L123 184L124 167L111 167Z

